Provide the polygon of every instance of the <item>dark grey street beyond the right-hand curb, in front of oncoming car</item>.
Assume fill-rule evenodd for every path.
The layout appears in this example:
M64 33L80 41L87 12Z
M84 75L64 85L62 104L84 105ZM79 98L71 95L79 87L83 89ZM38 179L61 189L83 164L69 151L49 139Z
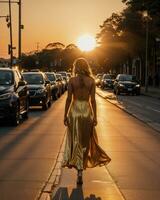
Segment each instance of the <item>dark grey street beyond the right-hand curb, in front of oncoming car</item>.
M149 96L114 95L111 90L97 89L108 101L129 112L160 132L160 100Z

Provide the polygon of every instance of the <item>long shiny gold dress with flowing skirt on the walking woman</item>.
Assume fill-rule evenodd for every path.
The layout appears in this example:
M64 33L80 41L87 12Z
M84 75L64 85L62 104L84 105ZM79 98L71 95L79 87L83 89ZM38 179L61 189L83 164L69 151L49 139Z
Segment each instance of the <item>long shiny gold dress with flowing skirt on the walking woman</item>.
M98 145L89 99L73 98L68 113L63 167L83 170L106 165L110 161L109 156Z

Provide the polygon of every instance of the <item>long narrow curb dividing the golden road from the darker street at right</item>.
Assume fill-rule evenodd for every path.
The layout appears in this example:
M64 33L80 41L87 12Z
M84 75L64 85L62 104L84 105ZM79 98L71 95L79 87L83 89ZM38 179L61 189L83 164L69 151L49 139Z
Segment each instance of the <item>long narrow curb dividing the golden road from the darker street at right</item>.
M132 113L131 111L127 110L126 108L124 108L123 106L120 106L116 103L113 103L111 100L109 100L109 98L106 96L104 97L102 94L96 92L97 95L99 95L100 97L102 97L103 99L107 100L109 103L111 103L112 105L115 105L117 108L123 110L124 112L128 113L129 115L133 116L134 118L140 120L141 122L145 123L147 126L149 126L150 128L152 128L153 130L157 131L158 133L160 133L160 129L159 128L156 128L154 127L152 124L151 124L151 121L144 121L143 119L141 119L139 116L137 116L136 114Z

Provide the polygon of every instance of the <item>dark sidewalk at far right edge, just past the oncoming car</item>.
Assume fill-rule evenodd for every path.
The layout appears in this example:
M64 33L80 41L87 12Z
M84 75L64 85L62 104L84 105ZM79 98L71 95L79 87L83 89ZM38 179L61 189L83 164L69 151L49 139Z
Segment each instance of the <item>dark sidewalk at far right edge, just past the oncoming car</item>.
M141 93L146 96L160 99L160 88L148 87L148 92L145 92L145 87L141 87Z

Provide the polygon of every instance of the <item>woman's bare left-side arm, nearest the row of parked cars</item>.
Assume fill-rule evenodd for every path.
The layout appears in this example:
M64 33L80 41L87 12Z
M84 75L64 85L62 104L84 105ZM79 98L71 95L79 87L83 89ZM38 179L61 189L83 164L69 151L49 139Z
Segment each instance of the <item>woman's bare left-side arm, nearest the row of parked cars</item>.
M64 125L67 126L67 114L68 114L68 110L69 107L71 105L72 102L72 95L73 95L73 90L72 90L72 79L69 80L68 83L68 95L67 95L67 99L66 99L66 104L65 104L65 112L64 112Z

